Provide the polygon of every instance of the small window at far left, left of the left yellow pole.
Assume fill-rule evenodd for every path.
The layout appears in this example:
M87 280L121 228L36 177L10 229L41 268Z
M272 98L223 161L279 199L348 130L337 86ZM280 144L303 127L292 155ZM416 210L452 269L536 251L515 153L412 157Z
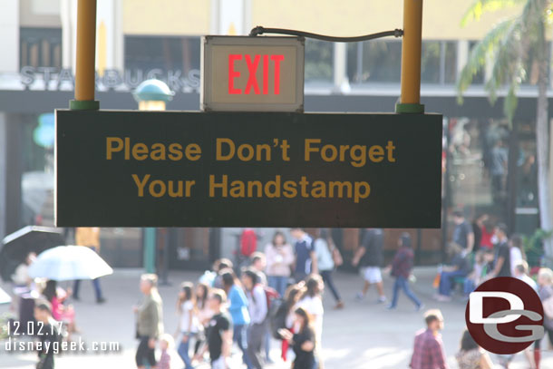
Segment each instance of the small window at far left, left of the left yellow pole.
M62 67L61 28L21 28L20 66Z

